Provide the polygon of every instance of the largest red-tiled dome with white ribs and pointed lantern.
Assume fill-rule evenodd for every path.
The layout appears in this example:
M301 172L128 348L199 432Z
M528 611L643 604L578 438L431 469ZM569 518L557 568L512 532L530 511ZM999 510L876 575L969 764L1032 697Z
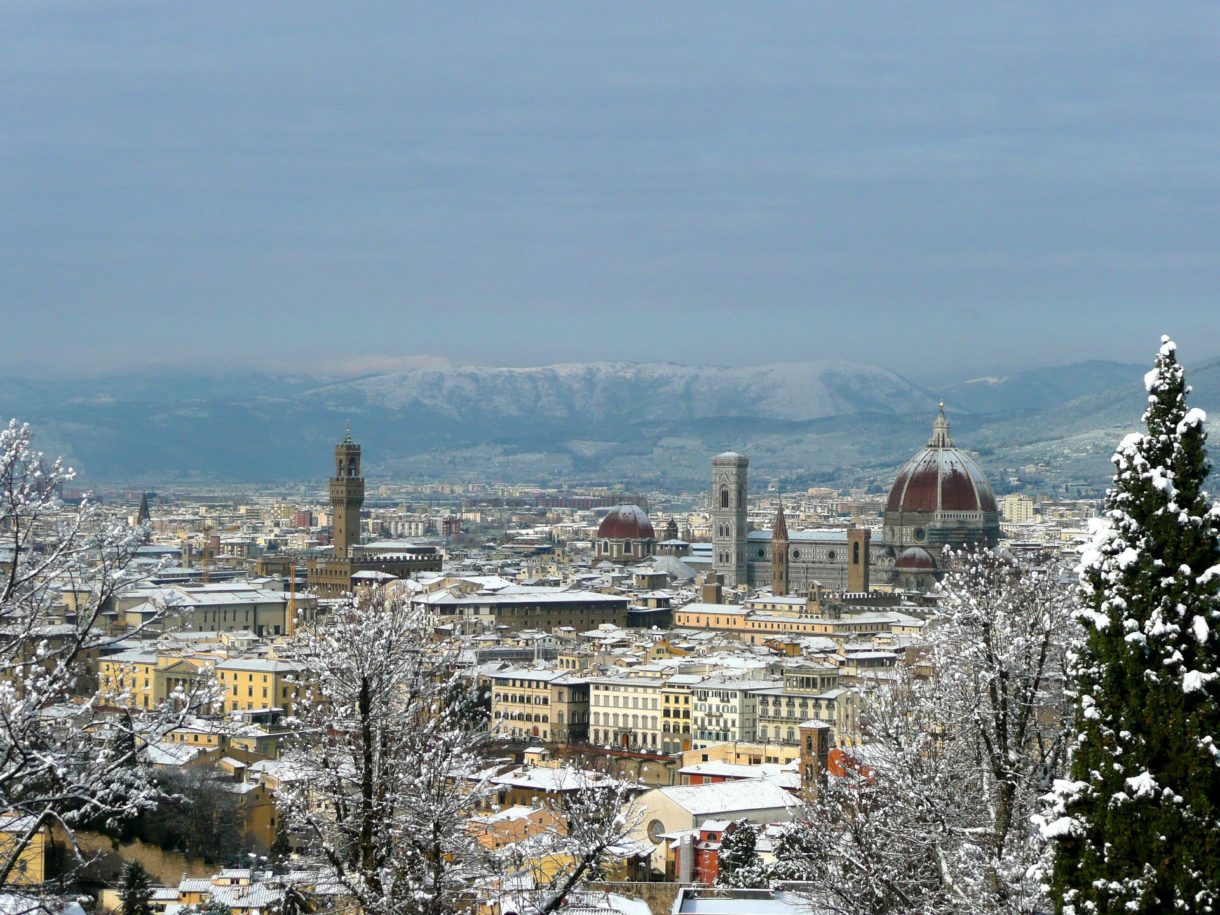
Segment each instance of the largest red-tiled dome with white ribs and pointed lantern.
M953 447L943 406L927 448L898 471L886 511L998 511L978 464Z

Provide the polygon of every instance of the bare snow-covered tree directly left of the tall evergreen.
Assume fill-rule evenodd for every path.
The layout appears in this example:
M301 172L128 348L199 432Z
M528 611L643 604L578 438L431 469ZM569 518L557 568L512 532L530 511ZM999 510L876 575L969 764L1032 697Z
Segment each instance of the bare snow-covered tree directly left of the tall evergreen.
M776 874L838 913L1021 913L1042 904L1031 814L1063 753L1070 590L1057 567L954 558L926 656L865 693L867 743L809 806Z

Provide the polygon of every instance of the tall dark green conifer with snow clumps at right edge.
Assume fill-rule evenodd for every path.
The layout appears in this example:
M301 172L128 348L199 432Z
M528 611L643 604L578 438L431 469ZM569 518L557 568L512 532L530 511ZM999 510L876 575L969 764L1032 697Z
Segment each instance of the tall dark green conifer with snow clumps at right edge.
M1113 458L1081 565L1071 778L1043 826L1069 915L1220 906L1220 508L1169 338L1144 382L1147 432Z

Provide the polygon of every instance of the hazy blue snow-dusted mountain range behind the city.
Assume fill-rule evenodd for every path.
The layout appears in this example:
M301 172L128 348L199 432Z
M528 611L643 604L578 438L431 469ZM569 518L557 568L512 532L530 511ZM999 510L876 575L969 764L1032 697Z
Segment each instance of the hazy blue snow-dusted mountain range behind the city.
M1220 360L1190 378L1192 403L1220 409ZM980 453L998 489L1009 478L1100 486L1114 444L1138 422L1142 371L1085 362L942 392L848 362L417 368L344 381L133 375L0 382L0 414L30 422L39 447L67 454L89 481L321 486L350 420L373 479L702 486L710 455L734 448L750 454L756 479L884 486L927 440L942 395L955 439Z

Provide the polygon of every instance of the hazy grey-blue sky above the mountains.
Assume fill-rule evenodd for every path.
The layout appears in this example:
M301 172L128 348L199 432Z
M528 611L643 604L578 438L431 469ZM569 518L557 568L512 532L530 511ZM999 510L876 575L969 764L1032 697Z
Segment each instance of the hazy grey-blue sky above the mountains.
M0 5L0 364L1220 355L1220 5Z

